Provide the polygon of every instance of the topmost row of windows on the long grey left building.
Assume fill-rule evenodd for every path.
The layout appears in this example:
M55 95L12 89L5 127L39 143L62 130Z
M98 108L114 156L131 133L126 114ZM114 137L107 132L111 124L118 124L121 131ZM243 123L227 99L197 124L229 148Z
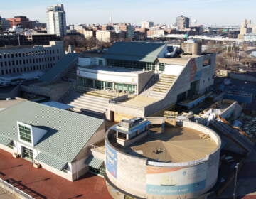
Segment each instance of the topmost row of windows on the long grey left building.
M1 53L0 59L5 58L21 58L21 57L27 57L27 56L34 56L34 55L46 55L46 54L55 54L59 53L60 50L40 50L40 51L31 51L31 52L24 52L24 53Z

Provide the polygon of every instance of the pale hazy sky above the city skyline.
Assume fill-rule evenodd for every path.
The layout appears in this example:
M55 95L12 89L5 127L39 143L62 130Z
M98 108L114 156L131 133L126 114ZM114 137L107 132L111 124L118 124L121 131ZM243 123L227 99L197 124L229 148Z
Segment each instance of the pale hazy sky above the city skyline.
M240 25L245 18L256 23L256 0L0 0L4 18L27 16L46 22L46 7L64 4L67 24L114 22L173 24L181 14L203 25Z

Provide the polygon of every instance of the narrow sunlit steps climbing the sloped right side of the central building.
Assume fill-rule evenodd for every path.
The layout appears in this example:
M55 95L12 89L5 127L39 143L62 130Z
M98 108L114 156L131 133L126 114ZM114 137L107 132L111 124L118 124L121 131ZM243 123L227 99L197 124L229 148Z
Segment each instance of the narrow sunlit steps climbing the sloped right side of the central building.
M162 74L159 77L159 80L154 85L153 89L149 93L148 97L153 97L157 99L163 99L167 92L169 92L171 86L174 84L176 80L176 76L174 75L165 75Z

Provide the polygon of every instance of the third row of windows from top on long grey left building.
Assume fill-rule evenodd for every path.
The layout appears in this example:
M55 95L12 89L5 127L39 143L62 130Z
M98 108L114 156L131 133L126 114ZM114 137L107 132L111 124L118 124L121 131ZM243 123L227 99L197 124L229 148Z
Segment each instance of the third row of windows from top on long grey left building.
M30 72L30 71L34 71L34 70L44 70L44 69L48 69L48 68L52 68L53 67L53 63L48 63L45 65L33 65L33 66L25 66L22 68L9 68L9 69L5 69L5 70L1 70L1 75L8 75L8 74L13 74L16 72Z

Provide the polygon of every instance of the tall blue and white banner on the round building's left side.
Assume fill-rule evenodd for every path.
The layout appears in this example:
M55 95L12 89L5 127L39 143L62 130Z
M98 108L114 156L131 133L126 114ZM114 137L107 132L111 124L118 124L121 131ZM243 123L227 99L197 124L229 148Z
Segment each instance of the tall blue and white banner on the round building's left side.
M114 178L117 178L117 151L106 145L106 168Z

